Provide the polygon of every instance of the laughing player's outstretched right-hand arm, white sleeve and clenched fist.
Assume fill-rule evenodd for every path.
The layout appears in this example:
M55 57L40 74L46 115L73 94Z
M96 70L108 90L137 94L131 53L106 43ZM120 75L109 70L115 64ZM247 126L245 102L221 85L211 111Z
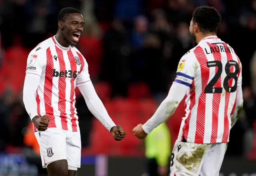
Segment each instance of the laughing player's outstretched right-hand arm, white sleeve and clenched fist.
M106 108L104 107L102 101L98 97L94 89L94 86L90 81L90 75L88 73L88 64L86 63L85 59L84 63L84 68L82 72L78 75L78 78L76 80L76 86L79 88L82 96L84 97L84 100L90 112L104 125L104 127L106 127L106 129L108 129L108 131L110 131L110 133L112 133L114 139L119 141L122 138L124 138L124 135L126 133L120 127L120 125L116 126L116 124L108 115ZM116 136L116 132L119 133L118 136Z

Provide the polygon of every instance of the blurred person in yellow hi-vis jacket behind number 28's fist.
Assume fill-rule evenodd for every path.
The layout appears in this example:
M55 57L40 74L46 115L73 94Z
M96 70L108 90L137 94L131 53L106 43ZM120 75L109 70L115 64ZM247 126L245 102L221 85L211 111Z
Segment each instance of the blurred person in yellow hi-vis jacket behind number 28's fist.
M170 171L171 135L166 123L160 124L145 139L148 176L167 176Z

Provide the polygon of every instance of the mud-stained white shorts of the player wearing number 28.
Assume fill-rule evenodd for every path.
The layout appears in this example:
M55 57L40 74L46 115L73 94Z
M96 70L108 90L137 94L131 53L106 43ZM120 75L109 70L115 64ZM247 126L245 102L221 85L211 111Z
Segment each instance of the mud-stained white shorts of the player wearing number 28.
M170 176L218 176L228 143L195 144L176 141Z

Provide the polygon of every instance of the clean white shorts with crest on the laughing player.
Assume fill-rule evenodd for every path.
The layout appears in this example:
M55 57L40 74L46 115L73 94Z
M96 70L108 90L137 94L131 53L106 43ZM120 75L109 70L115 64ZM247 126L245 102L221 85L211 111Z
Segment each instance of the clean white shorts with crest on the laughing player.
M80 132L48 128L46 131L36 131L35 136L40 145L43 168L49 162L63 159L68 161L68 166L80 168Z

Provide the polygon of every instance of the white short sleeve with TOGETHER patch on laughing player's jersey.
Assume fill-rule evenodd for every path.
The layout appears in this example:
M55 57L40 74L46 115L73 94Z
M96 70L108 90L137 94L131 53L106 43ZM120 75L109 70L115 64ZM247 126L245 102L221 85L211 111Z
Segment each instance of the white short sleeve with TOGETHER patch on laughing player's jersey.
M46 51L32 50L27 59L26 74L34 74L41 77L42 70L46 66Z

